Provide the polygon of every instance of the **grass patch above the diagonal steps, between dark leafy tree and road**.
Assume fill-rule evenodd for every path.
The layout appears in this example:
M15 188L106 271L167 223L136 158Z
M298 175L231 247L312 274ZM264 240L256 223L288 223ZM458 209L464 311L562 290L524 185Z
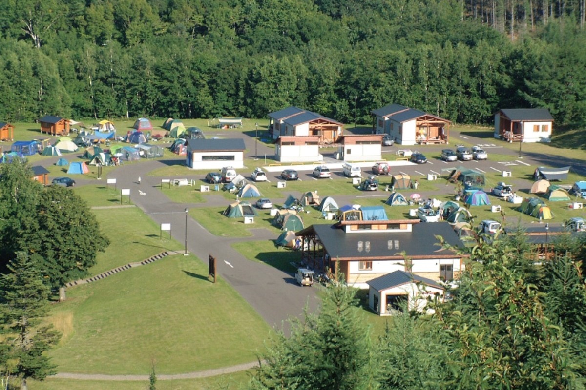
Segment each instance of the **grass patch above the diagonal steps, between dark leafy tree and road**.
M110 239L110 246L105 252L98 252L97 264L90 269L91 275L145 260L162 251L183 248L175 240L161 240L159 226L139 208L92 211L100 223L102 232Z

